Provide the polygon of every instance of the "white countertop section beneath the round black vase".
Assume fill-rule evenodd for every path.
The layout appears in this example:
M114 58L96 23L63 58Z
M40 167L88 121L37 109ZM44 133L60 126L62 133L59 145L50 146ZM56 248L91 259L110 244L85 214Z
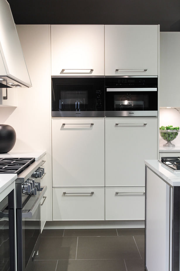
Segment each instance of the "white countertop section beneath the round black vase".
M10 151L8 153L0 154L0 158L35 158L35 160L39 160L41 157L46 154L46 151Z

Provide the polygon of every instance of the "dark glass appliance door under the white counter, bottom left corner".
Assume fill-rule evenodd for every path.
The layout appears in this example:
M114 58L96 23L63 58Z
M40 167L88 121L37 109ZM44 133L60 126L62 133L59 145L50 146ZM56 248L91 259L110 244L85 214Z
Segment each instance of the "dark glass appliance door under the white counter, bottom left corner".
M0 270L15 270L13 191L0 202Z

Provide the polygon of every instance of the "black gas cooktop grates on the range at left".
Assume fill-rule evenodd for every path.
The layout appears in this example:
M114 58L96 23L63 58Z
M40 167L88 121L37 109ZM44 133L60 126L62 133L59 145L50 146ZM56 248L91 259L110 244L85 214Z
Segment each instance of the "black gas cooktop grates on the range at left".
M35 158L0 158L0 174L15 173L19 175L34 161Z

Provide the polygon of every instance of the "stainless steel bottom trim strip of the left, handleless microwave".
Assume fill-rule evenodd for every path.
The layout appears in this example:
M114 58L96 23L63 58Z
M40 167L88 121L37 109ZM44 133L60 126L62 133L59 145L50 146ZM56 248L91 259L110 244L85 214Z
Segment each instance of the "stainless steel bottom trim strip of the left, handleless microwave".
M52 117L104 117L104 111L52 111Z

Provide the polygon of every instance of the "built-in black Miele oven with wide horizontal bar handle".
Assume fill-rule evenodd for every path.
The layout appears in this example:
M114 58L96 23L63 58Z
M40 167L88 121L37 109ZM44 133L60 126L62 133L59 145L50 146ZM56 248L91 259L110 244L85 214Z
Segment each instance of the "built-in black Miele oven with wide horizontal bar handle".
M105 116L157 116L157 76L105 77Z

